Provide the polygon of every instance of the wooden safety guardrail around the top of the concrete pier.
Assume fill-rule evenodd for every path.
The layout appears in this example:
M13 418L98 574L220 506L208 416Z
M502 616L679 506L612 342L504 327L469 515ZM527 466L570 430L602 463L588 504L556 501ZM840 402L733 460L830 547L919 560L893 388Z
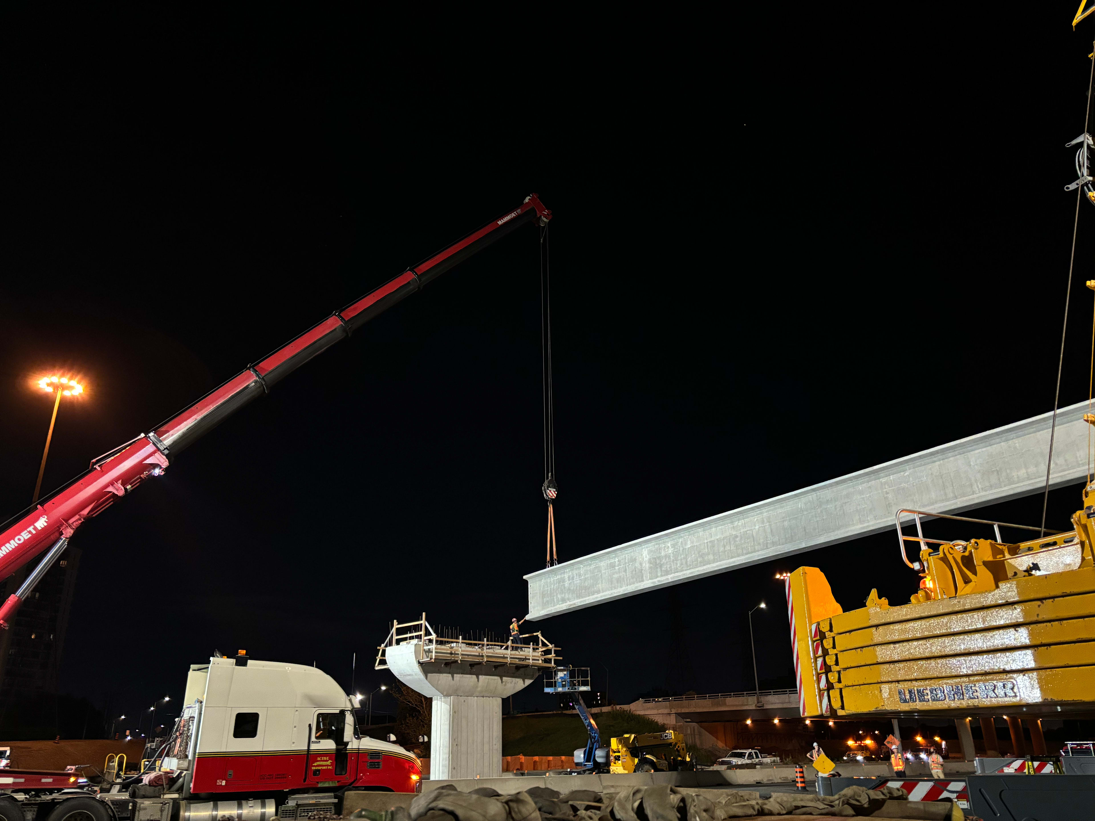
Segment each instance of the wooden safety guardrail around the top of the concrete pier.
M377 670L387 670L384 652L389 647L405 644L420 644L423 662L462 662L476 664L518 664L531 667L555 667L560 661L560 648L538 633L525 633L520 641L487 641L457 635L454 638L438 636L426 621L426 614L415 622L392 622L388 638L377 649Z

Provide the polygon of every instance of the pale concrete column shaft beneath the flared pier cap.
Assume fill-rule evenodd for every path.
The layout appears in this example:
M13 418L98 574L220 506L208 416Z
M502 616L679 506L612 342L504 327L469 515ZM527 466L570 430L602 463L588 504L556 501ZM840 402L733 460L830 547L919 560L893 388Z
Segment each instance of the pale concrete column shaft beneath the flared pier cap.
M435 695L430 717L430 778L502 775L502 699Z

